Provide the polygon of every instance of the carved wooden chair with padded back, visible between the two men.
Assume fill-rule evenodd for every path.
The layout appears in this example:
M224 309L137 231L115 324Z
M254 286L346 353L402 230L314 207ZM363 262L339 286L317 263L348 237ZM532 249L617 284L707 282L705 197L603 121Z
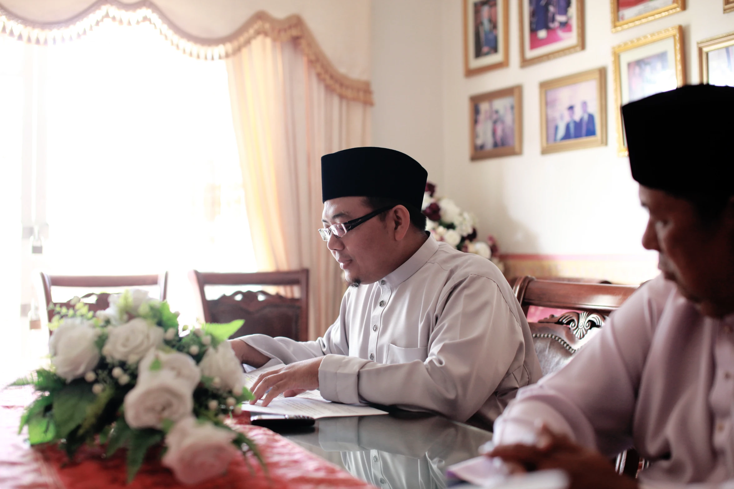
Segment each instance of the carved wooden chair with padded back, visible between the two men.
M543 375L561 369L603 326L608 315L637 290L631 285L561 282L518 277L512 291L525 315L531 306L566 309L537 322L528 322ZM644 465L634 449L615 460L617 473L636 477Z

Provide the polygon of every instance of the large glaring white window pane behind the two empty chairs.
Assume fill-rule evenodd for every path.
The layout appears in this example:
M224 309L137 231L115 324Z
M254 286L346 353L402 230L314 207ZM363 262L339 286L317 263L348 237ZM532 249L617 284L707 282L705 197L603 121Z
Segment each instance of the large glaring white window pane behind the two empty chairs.
M48 48L51 273L254 271L225 62L172 49L153 26L107 23Z

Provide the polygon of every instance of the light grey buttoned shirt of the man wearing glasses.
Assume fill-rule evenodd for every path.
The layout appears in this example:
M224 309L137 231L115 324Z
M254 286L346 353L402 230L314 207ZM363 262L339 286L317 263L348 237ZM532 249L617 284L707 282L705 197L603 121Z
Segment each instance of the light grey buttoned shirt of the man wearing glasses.
M285 364L325 356L324 399L376 402L493 422L541 374L528 323L502 273L429 237L396 271L349 287L313 342L242 337Z

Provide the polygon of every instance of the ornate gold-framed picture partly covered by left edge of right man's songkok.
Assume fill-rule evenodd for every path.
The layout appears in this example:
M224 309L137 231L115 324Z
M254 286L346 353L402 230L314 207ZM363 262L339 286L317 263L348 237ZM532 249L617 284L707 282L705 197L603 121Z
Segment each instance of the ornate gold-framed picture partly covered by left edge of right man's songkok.
M674 26L612 48L614 57L614 111L617 113L617 152L627 155L622 128L625 103L686 84L683 27Z

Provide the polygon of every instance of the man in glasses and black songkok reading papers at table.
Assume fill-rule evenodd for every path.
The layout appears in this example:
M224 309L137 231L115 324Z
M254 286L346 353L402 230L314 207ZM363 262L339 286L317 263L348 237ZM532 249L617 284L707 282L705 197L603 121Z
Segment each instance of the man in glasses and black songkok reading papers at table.
M320 389L327 400L376 402L489 424L540 367L528 323L490 260L438 243L421 205L426 170L395 150L321 158L325 246L354 287L314 342L250 335L239 358L264 374L255 397ZM314 230L315 232L315 230Z

